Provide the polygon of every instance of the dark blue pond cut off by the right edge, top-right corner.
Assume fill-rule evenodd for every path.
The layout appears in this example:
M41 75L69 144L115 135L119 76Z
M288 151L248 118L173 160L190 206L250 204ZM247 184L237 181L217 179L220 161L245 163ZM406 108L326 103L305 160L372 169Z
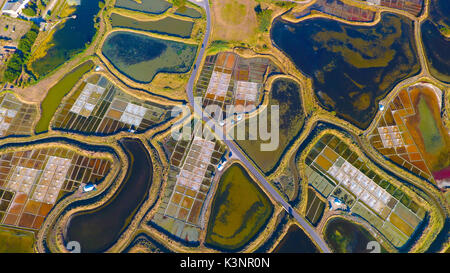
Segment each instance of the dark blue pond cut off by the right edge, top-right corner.
M422 41L431 74L450 83L450 1L431 1L429 19L422 23Z

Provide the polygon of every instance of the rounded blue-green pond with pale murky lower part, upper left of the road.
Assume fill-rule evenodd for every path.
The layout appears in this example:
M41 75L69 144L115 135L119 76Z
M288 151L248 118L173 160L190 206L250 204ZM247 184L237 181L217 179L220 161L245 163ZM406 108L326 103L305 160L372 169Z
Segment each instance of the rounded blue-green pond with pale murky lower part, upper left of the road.
M186 73L194 62L197 46L144 34L115 31L106 38L102 53L132 80L149 83L159 72Z

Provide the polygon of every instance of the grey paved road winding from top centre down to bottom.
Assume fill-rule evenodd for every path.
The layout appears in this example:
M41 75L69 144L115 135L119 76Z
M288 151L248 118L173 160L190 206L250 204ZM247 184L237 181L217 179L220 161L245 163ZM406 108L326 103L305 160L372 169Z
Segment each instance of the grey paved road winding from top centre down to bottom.
M210 14L210 8L208 0L203 0L202 2L198 2L195 0L190 0L191 2L203 7L206 11L206 31L205 36L203 38L203 46L200 49L200 52L197 56L197 61L195 63L195 68L192 71L192 75L189 78L188 86L187 86L187 94L188 94L188 100L191 106L194 108L195 113L197 113L199 116L202 117L202 119L211 125L211 128L214 130L215 123L214 121L210 120L210 118L203 114L203 110L201 106L197 105L194 101L194 82L197 75L197 72L200 68L203 55L205 53L205 48L208 43L208 38L211 30L211 14ZM219 127L220 128L220 127ZM266 191L272 196L274 200L276 200L278 203L280 203L286 211L289 211L291 209L291 206L283 199L283 197L280 196L280 194L275 190L274 187L266 180L266 178L261 174L261 172L255 168L255 166L248 160L248 158L244 155L244 153L241 151L241 149L236 145L236 143L228 137L224 137L223 135L223 129L215 130L215 133L218 135L220 139L223 140L223 142L228 146L228 148L232 151L234 156L236 156L242 164L244 164L247 169L253 174L253 176L259 180L259 182L264 186ZM320 250L325 253L331 252L328 248L325 241L322 239L322 237L309 225L309 223L300 216L294 209L291 209L292 216L297 220L297 222L303 227L303 229L310 235L310 238L312 238L317 246L319 246Z

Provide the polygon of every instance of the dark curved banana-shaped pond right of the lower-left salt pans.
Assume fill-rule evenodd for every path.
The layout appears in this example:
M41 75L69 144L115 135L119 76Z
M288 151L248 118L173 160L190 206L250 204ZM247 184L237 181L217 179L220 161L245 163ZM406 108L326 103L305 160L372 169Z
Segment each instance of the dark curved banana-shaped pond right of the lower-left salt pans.
M145 146L137 139L122 139L131 166L118 192L95 210L78 213L67 227L66 242L78 241L81 252L102 252L119 239L137 209L147 198L153 165Z

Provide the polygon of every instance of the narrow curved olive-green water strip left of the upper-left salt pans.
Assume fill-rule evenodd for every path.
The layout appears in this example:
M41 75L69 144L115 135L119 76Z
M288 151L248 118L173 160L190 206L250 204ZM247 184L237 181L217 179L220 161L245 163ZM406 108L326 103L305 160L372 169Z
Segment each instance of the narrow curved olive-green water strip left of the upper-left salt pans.
M56 83L47 93L41 104L41 118L36 124L36 133L42 133L48 130L50 121L55 114L61 100L64 96L72 90L75 84L80 80L80 78L92 69L94 63L92 61L87 61L71 72L66 74L58 83Z

